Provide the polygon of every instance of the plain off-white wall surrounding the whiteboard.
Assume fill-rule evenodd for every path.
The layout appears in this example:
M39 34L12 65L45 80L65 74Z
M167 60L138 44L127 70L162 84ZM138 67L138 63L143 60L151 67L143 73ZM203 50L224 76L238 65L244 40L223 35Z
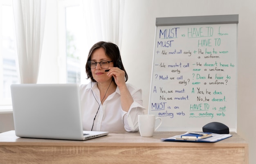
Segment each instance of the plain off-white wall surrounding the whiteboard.
M148 108L155 40L156 17L239 14L237 133L249 142L249 162L256 161L254 108L256 93L256 1L254 0L127 0L121 56L128 72L128 83L143 90ZM131 60L130 60L131 59Z

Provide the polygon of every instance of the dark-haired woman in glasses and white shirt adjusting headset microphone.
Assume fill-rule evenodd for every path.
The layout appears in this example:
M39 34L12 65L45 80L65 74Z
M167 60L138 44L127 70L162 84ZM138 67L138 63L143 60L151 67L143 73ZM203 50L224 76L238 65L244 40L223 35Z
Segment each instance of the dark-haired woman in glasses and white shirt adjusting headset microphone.
M142 93L126 84L128 75L117 45L94 44L85 67L91 83L80 87L83 130L138 131L138 115L145 109Z

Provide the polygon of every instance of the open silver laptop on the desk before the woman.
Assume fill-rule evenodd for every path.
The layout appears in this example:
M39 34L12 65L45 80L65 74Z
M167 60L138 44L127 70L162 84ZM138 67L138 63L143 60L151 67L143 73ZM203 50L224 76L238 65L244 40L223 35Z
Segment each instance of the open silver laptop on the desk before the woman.
M83 131L79 84L11 85L16 136L88 140L108 131Z

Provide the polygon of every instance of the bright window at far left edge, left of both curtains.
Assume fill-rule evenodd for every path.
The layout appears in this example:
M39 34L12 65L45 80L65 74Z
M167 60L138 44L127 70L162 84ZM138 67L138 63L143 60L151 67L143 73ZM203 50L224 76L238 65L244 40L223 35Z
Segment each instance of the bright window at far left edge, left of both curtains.
M0 4L0 105L11 104L10 85L19 83L16 67L16 37L11 5Z

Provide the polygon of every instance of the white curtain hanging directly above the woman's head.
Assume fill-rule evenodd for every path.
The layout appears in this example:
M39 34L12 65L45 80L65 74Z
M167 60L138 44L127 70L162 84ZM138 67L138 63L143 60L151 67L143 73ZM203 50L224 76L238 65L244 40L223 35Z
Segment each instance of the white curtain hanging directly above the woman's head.
M105 41L121 48L124 0L83 0L88 46Z

